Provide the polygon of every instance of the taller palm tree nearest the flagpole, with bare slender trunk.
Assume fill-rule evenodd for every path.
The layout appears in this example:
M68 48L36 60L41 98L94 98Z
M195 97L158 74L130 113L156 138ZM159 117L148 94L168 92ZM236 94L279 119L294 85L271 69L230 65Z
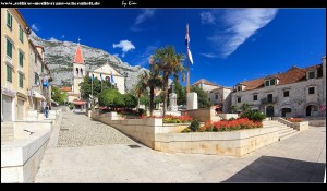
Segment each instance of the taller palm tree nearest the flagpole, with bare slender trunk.
M154 64L157 65L157 70L162 73L164 76L164 116L167 110L167 100L168 100L168 79L173 74L174 79L178 79L178 74L184 71L182 64L183 55L175 53L173 46L166 46L155 50L153 56Z

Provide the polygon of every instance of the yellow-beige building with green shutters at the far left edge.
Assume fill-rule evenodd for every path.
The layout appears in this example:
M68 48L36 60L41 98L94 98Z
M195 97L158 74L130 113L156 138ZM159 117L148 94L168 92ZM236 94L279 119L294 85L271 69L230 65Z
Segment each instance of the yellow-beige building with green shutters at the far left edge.
M28 109L29 27L17 9L1 8L1 118L24 119Z

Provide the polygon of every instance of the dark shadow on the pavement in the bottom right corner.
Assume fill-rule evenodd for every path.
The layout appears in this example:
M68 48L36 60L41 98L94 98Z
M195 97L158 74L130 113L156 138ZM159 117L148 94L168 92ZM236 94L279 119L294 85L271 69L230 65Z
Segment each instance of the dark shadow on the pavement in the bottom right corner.
M223 182L322 182L325 166L291 158L262 156Z

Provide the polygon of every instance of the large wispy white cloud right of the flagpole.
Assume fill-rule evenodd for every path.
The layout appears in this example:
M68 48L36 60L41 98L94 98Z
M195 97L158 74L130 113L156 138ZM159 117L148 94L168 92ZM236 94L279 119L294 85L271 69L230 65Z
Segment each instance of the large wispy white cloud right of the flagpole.
M223 15L223 31L217 29L207 39L223 58L234 52L247 38L270 23L278 9L229 9ZM218 46L217 46L218 45Z

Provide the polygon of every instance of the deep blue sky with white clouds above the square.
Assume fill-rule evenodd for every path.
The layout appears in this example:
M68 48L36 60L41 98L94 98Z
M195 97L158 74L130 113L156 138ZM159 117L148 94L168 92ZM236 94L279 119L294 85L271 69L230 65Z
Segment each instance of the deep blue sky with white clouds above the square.
M155 48L173 45L194 64L191 83L233 86L308 67L326 56L326 9L20 9L44 39L77 41L148 68ZM185 85L185 82L182 83Z

